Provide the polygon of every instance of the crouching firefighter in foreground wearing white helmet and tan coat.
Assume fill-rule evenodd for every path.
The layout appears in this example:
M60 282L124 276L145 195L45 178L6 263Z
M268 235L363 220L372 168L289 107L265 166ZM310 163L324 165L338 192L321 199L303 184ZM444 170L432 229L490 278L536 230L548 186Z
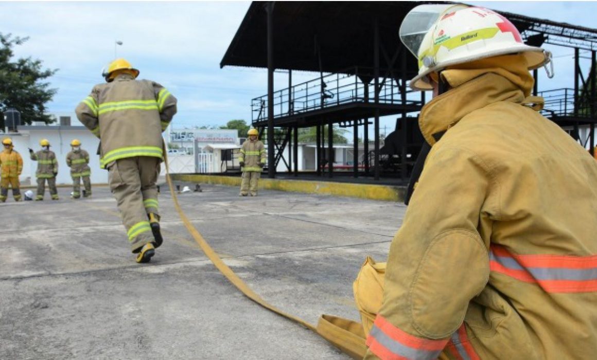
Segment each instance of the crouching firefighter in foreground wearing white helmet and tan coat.
M537 113L528 70L549 53L463 5L414 8L401 39L421 60L411 87L447 91L421 110L432 147L366 358L595 358L597 162Z

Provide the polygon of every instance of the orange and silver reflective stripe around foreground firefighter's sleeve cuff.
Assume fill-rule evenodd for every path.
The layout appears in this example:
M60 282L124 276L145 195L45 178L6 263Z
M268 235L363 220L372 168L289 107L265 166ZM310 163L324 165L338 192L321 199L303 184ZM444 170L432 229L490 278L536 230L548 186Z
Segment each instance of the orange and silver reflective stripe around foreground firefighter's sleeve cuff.
M371 351L384 359L436 359L447 343L448 339L407 334L381 315L377 315L366 341Z

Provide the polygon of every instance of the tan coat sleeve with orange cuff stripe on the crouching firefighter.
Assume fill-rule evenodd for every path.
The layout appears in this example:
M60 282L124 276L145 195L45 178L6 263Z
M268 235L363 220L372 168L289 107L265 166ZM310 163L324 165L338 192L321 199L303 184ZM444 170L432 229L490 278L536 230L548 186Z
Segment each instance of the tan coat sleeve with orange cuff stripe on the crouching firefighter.
M436 359L488 282L489 244L477 229L492 178L475 154L439 144L390 245L365 359Z

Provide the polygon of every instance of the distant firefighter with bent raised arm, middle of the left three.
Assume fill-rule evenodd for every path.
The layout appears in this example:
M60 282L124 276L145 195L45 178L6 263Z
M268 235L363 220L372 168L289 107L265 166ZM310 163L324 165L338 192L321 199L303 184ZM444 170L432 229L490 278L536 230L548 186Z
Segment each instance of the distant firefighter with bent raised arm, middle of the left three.
M30 158L38 162L38 168L35 171L38 182L35 200L42 201L44 199L46 181L48 181L48 189L50 190L52 200L58 200L58 190L56 189L58 160L56 159L56 154L50 150L50 141L47 139L41 139L39 145L41 145L42 149L38 152L33 152L32 149L29 149Z

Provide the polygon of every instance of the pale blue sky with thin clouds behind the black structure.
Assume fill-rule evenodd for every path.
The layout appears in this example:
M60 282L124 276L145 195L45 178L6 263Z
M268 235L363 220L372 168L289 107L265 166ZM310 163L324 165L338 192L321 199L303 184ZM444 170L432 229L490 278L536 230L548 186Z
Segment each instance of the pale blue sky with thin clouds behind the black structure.
M597 2L469 2L494 10L595 26ZM20 57L32 56L48 68L60 69L51 85L58 88L48 104L50 113L73 111L94 84L103 81L101 69L115 57L130 60L140 78L159 82L179 99L177 127L217 126L230 119L250 122L250 101L267 91L264 69L224 67L223 57L250 2L0 2L0 32L29 36L16 48ZM122 45L115 45L122 41ZM540 89L573 85L573 50L550 48L556 76L546 81L540 70ZM588 68L589 63L586 63ZM585 69L586 70L586 69ZM279 86L287 75L276 76ZM293 74L293 82L316 78ZM394 119L381 126L393 130ZM383 130L382 130L383 133Z

